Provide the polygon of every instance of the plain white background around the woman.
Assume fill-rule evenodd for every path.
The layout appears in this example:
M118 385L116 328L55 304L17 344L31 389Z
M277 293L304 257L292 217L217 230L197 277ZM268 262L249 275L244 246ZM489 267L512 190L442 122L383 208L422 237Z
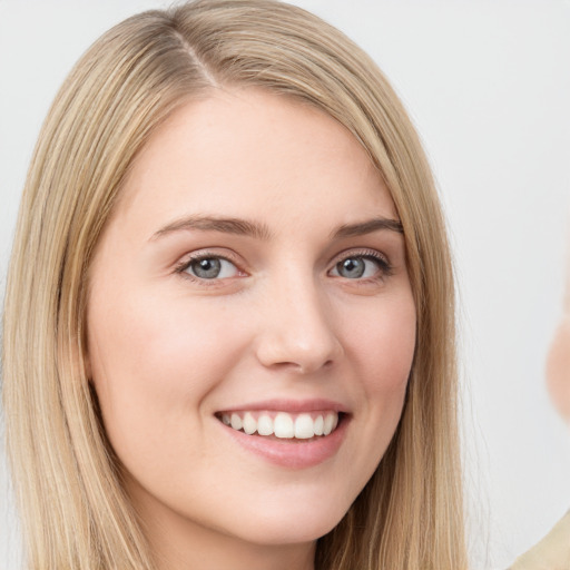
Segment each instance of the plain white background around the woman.
M299 0L366 49L409 108L460 287L473 567L503 568L570 508L570 434L543 362L570 198L570 2ZM0 293L40 124L79 55L158 0L0 0ZM41 263L41 259L30 259ZM18 534L0 451L0 568Z

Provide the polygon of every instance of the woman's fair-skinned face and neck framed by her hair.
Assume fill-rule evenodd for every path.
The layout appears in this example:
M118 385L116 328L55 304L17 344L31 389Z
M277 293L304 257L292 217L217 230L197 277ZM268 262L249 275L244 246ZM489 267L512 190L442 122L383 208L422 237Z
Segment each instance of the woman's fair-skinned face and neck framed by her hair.
M88 302L90 375L159 567L312 569L394 434L414 345L397 214L344 127L253 89L173 115Z

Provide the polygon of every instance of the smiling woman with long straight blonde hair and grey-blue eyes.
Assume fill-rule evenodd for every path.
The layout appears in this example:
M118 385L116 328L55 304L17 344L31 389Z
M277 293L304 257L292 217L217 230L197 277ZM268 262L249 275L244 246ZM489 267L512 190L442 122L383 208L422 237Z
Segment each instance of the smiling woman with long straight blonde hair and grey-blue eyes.
M10 267L29 567L465 568L453 321L358 48L272 1L122 22L53 104Z

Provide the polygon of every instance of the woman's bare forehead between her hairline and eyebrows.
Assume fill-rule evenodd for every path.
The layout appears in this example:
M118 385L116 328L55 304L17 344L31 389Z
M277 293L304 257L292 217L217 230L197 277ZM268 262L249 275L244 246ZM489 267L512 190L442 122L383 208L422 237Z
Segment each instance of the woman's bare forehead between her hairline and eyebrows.
M186 214L180 208L250 217L252 209L276 214L292 200L313 214L342 205L347 218L371 207L396 217L367 153L336 120L291 98L216 90L154 134L119 208L132 214L144 206L148 215L173 218Z

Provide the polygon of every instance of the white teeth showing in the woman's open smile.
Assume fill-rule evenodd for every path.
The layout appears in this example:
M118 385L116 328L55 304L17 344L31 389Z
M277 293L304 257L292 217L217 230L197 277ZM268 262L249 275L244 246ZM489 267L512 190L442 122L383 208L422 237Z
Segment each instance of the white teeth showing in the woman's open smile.
M216 417L233 430L247 435L279 440L313 440L333 433L343 419L342 412L219 412Z

